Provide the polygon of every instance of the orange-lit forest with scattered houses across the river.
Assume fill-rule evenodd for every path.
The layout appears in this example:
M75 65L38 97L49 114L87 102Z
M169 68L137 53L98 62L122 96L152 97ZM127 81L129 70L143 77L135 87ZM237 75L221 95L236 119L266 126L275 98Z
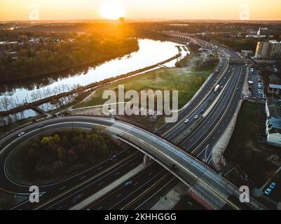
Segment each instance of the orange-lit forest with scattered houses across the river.
M1 31L0 40L8 39L6 32ZM15 41L13 36L10 41ZM97 66L139 49L135 38L30 32L20 32L17 36L17 46L0 52L2 82L43 76L79 66Z

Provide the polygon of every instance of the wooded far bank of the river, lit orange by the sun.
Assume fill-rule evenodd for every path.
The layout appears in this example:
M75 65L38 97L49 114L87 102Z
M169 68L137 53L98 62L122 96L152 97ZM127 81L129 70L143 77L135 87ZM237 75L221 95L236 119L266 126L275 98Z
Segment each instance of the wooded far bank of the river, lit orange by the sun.
M135 38L95 38L85 35L72 42L67 39L57 42L22 43L18 46L20 49L14 52L17 59L2 59L0 83L53 74L60 76L63 71L82 66L98 66L139 50L138 40Z

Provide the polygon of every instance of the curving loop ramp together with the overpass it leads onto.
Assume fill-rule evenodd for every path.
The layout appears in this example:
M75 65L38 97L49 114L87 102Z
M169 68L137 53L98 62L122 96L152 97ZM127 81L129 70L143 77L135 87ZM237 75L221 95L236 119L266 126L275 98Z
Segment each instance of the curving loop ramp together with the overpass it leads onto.
M38 125L41 124L44 127L39 130ZM57 129L71 127L91 129L95 126L106 128L107 132L113 134L117 139L142 151L145 155L144 158L151 158L165 167L165 169L185 183L188 188L187 193L207 209L266 209L266 207L263 207L252 197L249 203L241 203L238 188L196 160L196 158L182 151L181 148L174 146L172 143L151 132L112 118L55 118L29 125L1 139L0 144L4 148L0 153L0 162L3 165L0 172L0 188L18 194L26 194L28 192L27 186L15 184L8 179L5 167L9 155L27 139L35 137L42 132L50 132ZM20 132L26 132L26 134L18 138ZM46 186L44 191L48 191L48 186Z

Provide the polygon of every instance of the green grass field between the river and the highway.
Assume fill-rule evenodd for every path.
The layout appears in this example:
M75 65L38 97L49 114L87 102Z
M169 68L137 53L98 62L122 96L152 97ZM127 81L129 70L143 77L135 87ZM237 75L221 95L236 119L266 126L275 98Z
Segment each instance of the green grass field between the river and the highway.
M121 80L118 83L106 85L96 90L93 97L87 102L78 104L76 108L85 106L96 106L104 104L107 99L102 99L104 90L114 90L118 92L118 85L124 85L127 90L178 90L179 108L184 106L198 89L203 85L212 70L194 71L187 68L163 68L150 71L139 76Z

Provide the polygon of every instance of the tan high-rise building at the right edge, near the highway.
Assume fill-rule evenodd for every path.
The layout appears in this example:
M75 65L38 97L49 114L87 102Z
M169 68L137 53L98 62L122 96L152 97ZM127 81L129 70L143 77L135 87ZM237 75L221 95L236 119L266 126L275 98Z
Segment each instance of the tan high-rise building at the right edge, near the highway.
M281 59L281 42L259 41L256 45L256 59Z

